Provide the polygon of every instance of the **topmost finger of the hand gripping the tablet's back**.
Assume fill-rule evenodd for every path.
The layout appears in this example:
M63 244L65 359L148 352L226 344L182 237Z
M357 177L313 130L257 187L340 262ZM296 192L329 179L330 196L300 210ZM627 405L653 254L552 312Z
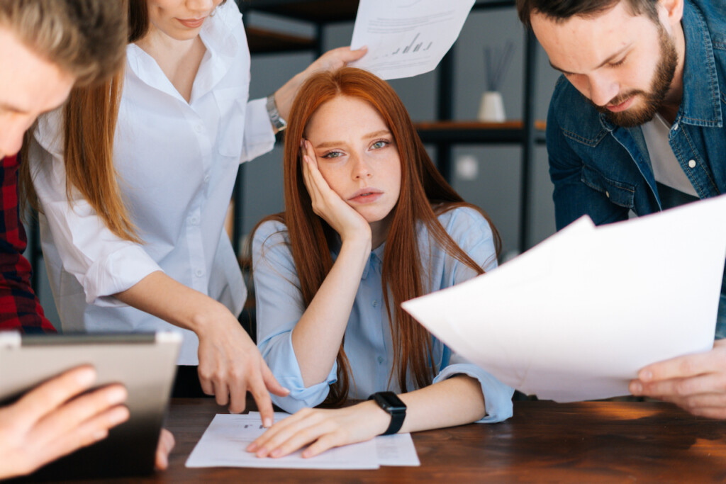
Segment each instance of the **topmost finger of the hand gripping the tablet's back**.
M36 422L78 393L88 390L95 381L96 370L91 366L80 366L30 390L20 398L17 406L23 409L24 416Z

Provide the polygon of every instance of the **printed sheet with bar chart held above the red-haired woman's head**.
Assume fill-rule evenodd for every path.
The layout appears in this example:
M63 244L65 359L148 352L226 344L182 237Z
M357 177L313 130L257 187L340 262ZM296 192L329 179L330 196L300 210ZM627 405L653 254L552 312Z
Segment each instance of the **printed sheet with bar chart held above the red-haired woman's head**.
M475 0L360 0L351 48L368 47L351 66L383 79L428 73L456 41Z

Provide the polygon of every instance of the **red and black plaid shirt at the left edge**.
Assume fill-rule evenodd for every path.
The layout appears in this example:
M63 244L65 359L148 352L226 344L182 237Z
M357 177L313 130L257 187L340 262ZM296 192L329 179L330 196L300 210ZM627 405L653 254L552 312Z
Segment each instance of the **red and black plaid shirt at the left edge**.
M0 189L0 330L19 329L24 333L55 332L30 288L30 262L23 257L28 245L20 223L17 203L16 156L2 159Z

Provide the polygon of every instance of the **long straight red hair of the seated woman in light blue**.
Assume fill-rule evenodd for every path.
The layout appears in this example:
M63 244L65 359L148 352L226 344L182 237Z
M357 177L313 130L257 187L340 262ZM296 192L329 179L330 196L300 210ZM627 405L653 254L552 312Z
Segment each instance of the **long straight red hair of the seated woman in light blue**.
M290 112L285 134L285 212L265 218L282 221L287 226L290 250L300 280L303 303L311 303L315 293L333 267L330 255L335 231L312 210L310 196L303 181L299 162L300 140L310 118L325 102L348 96L368 102L386 121L401 159L401 192L386 238L383 255L383 298L393 337L393 368L402 391L407 391L409 369L415 385L431 384L436 364L431 357L432 340L426 329L401 309L405 300L423 295L424 270L417 241L417 224L423 223L433 241L446 253L473 268L484 271L454 240L437 215L455 207L468 206L446 183L428 157L403 103L391 86L364 70L344 67L335 73L312 75L301 87ZM473 207L476 208L476 207ZM484 212L476 208L489 221ZM499 253L499 234L492 226ZM390 295L393 297L391 302ZM340 404L347 398L350 365L343 343L338 350L338 381L330 388L327 403Z

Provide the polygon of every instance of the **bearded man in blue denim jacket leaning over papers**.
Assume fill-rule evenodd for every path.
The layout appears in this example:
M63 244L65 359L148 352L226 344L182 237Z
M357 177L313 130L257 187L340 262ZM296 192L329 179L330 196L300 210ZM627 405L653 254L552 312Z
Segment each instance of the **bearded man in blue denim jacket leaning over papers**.
M517 0L517 8L563 73L547 115L558 229L585 214L610 223L726 192L722 0ZM643 287L654 290L656 282ZM713 350L647 366L630 391L726 418L725 336L726 279Z

